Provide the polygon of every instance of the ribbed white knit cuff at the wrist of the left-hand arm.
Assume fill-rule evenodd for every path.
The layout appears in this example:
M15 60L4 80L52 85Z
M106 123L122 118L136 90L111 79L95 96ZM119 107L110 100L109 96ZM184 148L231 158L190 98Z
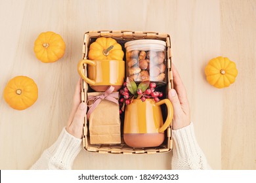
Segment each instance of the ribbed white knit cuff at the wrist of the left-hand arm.
M71 169L75 157L82 149L81 142L81 139L70 135L64 127L57 141L47 149L51 163L60 169Z

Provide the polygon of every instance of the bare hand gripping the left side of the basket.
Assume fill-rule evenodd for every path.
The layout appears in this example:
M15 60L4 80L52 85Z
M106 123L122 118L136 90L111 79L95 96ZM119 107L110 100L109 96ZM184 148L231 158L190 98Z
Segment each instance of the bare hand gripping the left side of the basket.
M72 112L66 125L68 133L76 138L81 139L83 135L83 120L87 112L87 105L81 103L81 78L79 78L75 86L75 94L73 99Z

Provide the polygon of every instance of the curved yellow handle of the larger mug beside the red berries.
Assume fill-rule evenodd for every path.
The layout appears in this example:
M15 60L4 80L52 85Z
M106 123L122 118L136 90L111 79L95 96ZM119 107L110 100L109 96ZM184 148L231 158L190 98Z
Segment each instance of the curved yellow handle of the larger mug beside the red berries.
M173 120L173 105L171 104L171 101L169 99L163 99L156 103L156 106L160 106L165 104L167 107L167 118L164 122L164 124L158 129L158 133L163 133L165 129L171 124L171 120Z

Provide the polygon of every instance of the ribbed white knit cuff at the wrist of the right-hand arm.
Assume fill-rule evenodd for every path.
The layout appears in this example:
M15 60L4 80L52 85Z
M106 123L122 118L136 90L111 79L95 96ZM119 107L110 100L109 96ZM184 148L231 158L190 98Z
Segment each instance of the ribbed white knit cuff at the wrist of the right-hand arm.
M188 158L202 154L202 150L196 141L192 122L186 127L173 130L173 141L173 157L175 158Z

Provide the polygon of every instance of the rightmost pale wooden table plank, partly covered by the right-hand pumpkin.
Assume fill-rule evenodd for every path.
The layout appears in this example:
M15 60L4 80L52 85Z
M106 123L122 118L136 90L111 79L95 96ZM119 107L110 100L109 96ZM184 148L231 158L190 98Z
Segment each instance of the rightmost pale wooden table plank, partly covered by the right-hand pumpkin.
M256 169L255 8L256 1L221 1L221 52L238 67L223 95L223 169Z

